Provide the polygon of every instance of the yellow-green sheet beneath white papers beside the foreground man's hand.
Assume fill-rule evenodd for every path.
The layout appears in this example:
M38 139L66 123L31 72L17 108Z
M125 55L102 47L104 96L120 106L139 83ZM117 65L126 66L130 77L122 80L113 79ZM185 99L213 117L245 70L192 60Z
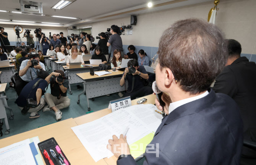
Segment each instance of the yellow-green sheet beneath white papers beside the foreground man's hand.
M150 133L129 146L131 155L134 159L145 152L147 144L152 141L153 137L154 133Z

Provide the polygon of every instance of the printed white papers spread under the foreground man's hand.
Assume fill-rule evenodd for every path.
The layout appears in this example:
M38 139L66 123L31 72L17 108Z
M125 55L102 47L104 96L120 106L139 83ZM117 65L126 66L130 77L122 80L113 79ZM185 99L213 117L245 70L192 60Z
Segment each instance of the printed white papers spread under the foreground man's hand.
M105 157L113 156L112 152L107 149L108 140L112 139L114 134L119 137L126 127L129 128L126 134L129 145L147 135L149 135L147 138L151 141L154 136L152 132L156 132L162 121L162 115L155 112L155 110L156 106L152 104L134 105L121 108L102 118L71 129L94 161L97 162Z

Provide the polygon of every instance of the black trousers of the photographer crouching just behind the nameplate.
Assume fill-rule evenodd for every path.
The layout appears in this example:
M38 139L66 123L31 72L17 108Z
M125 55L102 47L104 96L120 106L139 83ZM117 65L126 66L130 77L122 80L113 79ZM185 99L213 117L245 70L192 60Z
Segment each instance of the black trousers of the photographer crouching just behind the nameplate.
M145 95L150 95L153 93L152 87L150 86L144 86L141 89L133 90L131 93L126 92L123 97L131 97L131 100L136 99L136 97L143 97Z

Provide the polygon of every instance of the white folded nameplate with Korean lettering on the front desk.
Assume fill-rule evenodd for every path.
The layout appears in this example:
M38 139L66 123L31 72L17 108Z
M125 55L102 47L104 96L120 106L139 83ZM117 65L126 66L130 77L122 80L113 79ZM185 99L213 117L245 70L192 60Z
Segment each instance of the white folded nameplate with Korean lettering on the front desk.
M119 110L121 108L126 108L131 106L131 97L124 97L122 99L117 99L109 102L109 108L112 112Z

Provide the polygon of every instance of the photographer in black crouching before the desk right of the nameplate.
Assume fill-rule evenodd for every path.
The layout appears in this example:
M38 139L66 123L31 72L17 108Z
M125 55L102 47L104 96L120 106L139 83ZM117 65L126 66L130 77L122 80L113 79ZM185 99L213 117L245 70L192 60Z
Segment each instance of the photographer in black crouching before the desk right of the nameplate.
M131 96L131 100L133 100L136 97L152 94L152 88L150 86L144 86L144 81L149 78L144 66L139 66L136 59L128 61L127 65L129 68L125 68L125 72L120 80L120 86L125 85L126 80L128 81L128 92L123 97ZM135 68L133 74L129 73L131 66Z

